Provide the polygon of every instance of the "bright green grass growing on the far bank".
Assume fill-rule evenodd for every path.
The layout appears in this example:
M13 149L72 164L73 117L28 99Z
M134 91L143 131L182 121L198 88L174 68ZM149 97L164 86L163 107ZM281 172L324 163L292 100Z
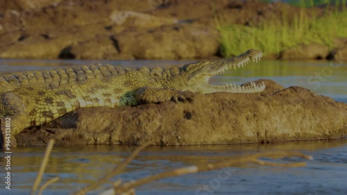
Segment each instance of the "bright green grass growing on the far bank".
M314 5L313 0L310 0L310 5ZM343 11L337 10L340 5L343 5ZM332 49L334 38L347 37L346 0L336 3L335 11L327 11L322 17L307 17L305 7L302 0L301 12L292 22L284 10L280 22L266 19L258 26L221 24L216 17L221 32L221 54L224 57L237 56L250 48L261 49L264 55L278 54L291 46L310 43L325 44Z

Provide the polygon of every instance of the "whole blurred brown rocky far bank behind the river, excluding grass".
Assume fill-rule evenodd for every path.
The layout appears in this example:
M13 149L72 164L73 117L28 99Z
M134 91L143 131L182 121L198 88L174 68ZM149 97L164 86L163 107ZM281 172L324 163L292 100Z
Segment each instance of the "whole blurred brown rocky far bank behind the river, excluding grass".
M220 34L214 10L226 24L249 25L269 15L280 18L283 8L288 6L255 0L2 1L0 58L216 58L220 57ZM288 10L291 15L300 11ZM303 44L264 58L346 60L347 38L335 42L332 50Z

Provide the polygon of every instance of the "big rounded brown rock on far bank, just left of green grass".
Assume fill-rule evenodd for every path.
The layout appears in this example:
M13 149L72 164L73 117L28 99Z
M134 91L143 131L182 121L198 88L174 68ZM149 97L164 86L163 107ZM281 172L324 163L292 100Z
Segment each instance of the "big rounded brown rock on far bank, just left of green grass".
M124 55L174 60L213 56L219 49L217 36L217 30L190 24L124 31L115 38Z

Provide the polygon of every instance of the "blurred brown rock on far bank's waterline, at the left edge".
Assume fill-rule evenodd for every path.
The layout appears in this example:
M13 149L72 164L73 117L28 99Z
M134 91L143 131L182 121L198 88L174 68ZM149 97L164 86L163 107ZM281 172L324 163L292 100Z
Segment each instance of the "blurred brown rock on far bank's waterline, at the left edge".
M117 53L115 46L107 35L103 24L99 28L71 27L57 31L35 31L31 33L6 34L6 37L17 38L17 42L0 44L0 58L34 58L34 59L110 59ZM101 35L102 34L102 35ZM65 55L65 54L66 55Z

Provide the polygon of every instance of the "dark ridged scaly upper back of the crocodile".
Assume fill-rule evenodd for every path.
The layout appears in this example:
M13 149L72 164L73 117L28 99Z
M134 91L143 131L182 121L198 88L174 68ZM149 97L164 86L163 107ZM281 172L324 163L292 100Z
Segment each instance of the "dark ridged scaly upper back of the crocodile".
M17 87L40 87L54 90L67 85L82 85L93 80L108 81L127 68L112 65L82 65L61 69L22 71L0 77L0 92L8 92Z

